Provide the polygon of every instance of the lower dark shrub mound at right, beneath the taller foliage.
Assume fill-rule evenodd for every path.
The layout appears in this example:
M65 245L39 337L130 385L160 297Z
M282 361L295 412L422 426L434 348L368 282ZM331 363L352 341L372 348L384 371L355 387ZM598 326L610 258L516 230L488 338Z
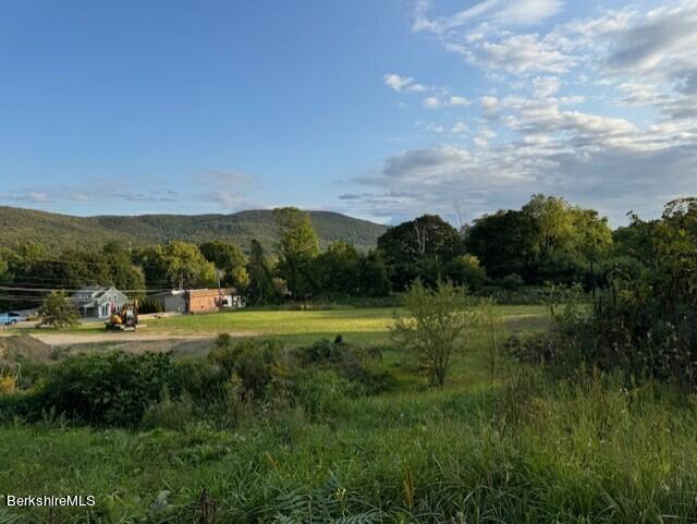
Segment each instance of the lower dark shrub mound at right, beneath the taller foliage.
M697 387L697 310L682 305L678 321L667 304L638 287L598 292L595 303L566 297L551 304L543 333L514 336L505 343L521 362L543 364L555 376L579 369L619 371L627 379L658 379Z

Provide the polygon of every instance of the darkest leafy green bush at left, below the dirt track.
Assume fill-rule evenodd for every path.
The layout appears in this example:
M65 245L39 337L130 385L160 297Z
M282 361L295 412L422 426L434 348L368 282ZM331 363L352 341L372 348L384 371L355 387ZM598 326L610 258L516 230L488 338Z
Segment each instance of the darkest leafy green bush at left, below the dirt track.
M176 382L169 353L71 356L50 368L32 395L28 415L47 412L94 425L136 426L148 405Z

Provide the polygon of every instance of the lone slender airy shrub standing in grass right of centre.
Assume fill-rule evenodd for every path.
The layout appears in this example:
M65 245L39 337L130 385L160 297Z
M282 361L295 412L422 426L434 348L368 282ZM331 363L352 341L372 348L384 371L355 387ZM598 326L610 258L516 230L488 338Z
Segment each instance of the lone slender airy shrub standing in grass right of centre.
M466 331L476 322L466 290L451 282L427 289L417 279L404 306L408 315L395 314L392 338L416 352L429 383L441 387L453 358L467 348Z

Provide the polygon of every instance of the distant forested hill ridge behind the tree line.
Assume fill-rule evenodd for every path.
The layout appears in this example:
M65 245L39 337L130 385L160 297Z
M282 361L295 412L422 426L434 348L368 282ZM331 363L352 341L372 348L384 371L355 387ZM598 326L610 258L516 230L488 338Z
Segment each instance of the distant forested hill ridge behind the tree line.
M330 211L310 211L321 247L343 240L359 249L375 247L387 227ZM206 242L221 240L247 249L257 239L271 248L278 227L271 210L232 215L140 215L72 217L0 206L0 247L32 240L49 251L100 246L107 242L145 245L170 240Z

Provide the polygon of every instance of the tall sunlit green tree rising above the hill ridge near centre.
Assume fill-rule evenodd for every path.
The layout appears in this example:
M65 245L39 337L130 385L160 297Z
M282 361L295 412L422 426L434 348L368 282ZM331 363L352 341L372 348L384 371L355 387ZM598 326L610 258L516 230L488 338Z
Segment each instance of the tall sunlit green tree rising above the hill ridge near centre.
M285 280L293 297L304 297L315 288L313 260L319 255L319 241L308 212L294 207L273 210L280 240L277 246L279 277Z

